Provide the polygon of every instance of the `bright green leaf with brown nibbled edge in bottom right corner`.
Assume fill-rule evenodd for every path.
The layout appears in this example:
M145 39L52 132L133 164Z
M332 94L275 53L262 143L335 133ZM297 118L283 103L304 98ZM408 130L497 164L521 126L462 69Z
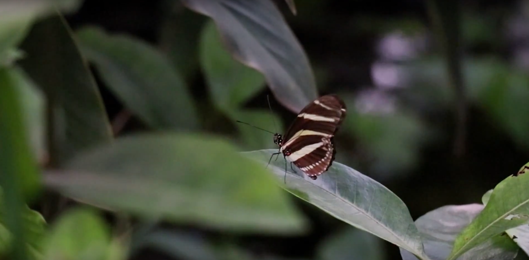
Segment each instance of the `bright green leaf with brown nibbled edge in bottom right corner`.
M526 164L528 166L529 164ZM522 167L523 173L524 167ZM510 175L490 194L479 215L455 239L450 260L501 232L529 221L529 174Z

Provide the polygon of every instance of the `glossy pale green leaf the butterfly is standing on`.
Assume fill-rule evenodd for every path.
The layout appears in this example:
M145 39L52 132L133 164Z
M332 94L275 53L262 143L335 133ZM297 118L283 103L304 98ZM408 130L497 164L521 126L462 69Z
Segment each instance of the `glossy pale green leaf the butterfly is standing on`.
M270 149L243 154L266 165L276 152ZM268 166L281 181L285 167L282 158L272 160ZM428 259L406 204L384 185L338 162L333 162L329 171L318 176L317 180L312 180L299 169L296 171L287 172L285 189L288 192L335 218Z

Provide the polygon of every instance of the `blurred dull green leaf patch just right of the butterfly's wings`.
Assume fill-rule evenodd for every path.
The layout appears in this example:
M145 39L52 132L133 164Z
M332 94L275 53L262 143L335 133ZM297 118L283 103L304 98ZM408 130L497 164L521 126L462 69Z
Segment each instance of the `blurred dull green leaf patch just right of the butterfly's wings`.
M400 107L387 113L362 112L353 98L343 97L348 107L344 131L352 132L372 157L372 174L380 178L394 177L417 165L421 147L434 135L415 112Z

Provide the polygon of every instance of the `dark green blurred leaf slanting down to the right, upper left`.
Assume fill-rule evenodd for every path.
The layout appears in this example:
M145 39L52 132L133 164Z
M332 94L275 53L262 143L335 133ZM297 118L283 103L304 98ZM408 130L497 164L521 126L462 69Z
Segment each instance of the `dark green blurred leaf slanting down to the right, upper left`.
M183 78L148 43L89 27L76 34L106 85L153 128L195 129L197 114Z

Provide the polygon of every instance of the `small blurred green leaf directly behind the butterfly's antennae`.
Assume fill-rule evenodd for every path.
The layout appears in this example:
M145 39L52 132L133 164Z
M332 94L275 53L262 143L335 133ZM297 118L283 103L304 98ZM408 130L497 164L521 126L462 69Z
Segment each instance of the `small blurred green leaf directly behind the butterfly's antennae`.
M241 110L233 111L230 114L233 121L240 120L256 127L266 129L271 132L283 129L283 124L279 116L266 110ZM273 135L265 131L250 127L250 125L235 123L241 133L244 148L248 150L279 147L273 142Z

